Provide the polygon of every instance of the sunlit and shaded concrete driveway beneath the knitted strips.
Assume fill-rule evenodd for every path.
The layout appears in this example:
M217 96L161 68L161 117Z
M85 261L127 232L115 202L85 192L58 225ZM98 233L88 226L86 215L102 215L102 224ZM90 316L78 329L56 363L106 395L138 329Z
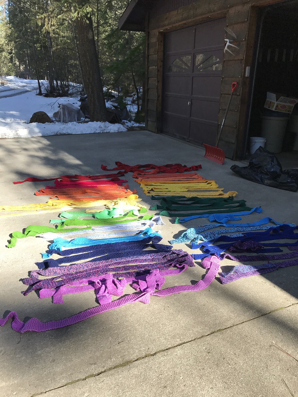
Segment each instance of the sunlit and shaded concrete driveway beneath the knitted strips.
M262 206L261 215L242 222L271 216L298 224L297 193L241 179L230 171L231 160L220 166L203 154L202 148L148 131L1 140L1 204L46 201L33 195L45 182L12 184L30 175L97 174L101 164L112 168L116 160L130 165L181 162L202 164L201 175L215 179L226 192L238 191L248 206ZM127 179L149 208L151 199L132 173ZM1 315L14 310L21 320L49 321L96 305L92 291L66 295L60 305L34 293L21 295L19 279L36 268L46 241L28 237L8 249L8 236L27 225L47 225L58 213L0 219ZM164 243L206 223L164 221ZM194 253L185 244L175 248ZM190 284L203 274L198 265L172 276L165 286ZM290 391L298 396L297 285L294 266L227 285L214 280L201 292L152 297L148 305L126 305L59 330L21 335L9 322L0 329L0 396L289 397Z

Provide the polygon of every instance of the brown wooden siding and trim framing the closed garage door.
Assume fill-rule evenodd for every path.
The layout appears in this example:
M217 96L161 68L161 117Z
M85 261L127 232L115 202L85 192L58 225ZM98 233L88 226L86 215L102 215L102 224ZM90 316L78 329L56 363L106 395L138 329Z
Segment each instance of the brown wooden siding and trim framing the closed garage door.
M230 48L235 54L234 56L231 54L224 54L219 103L219 128L223 121L228 97L231 93L232 82L238 82L238 87L231 102L230 111L226 119L219 146L225 151L226 157L234 159L236 159L236 157L239 158L243 154L238 146L241 145L242 148L244 147L245 137L242 135L245 132L244 125L249 88L249 78L244 77L245 67L251 66L255 35L255 20L252 23L250 21L250 15L253 14L253 18L255 18L255 12L252 12L252 9L255 10L257 6L265 6L279 2L281 2L281 0L261 0L256 2L244 0L195 1L192 4L178 8L172 12L167 12L163 15L153 17L153 14L149 13L147 25L147 112L150 111L150 116L148 114L147 129L153 132L162 131L161 90L163 85L163 33L203 23L208 20L226 17L227 27L231 29L237 37L237 39L234 39L233 44L237 45L239 50ZM228 33L226 33L225 37L227 39L233 39ZM246 62L247 52L248 62ZM153 116L154 112L156 114L155 120Z

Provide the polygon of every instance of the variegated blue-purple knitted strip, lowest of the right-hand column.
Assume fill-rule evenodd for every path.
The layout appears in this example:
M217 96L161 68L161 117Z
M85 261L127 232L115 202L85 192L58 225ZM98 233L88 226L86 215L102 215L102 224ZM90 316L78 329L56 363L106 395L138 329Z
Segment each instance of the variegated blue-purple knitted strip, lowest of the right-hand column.
M296 266L296 265L298 265L298 259L286 260L284 262L268 263L260 266L249 266L248 272L241 272L241 273L237 272L238 271L237 268L239 266L238 265L235 266L229 273L220 273L219 278L221 279L221 282L223 284L227 284L230 283L231 281L239 280L240 278L256 276L258 274L265 274L265 273L273 272L278 268L286 268L288 266ZM255 268L255 270L253 270L253 268ZM241 270L242 269L243 267L241 267Z

